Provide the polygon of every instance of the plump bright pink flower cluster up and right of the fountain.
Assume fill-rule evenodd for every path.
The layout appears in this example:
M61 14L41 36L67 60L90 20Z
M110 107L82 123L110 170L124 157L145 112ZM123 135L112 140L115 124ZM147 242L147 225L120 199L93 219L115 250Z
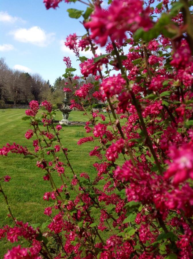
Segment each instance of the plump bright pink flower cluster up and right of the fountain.
M125 79L123 79L121 74L118 74L116 76L113 75L112 77L103 79L103 82L100 85L100 90L103 92L104 97L109 98L115 94L120 94L125 85Z

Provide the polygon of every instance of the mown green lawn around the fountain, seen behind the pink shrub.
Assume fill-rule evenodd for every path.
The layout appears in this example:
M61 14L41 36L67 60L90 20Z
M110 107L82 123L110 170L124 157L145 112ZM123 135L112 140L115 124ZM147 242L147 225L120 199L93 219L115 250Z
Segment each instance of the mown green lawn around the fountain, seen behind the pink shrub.
M37 117L41 117L38 112ZM24 135L30 128L28 121L22 121L25 116L24 109L4 109L0 110L0 147L7 142L10 144L16 142L22 146L27 146L32 150L32 139L27 140ZM72 121L87 121L87 117L83 112L72 111L69 115ZM55 119L62 119L61 112L57 111ZM43 128L43 126L41 126ZM96 170L92 164L97 160L96 157L90 157L89 151L94 148L93 142L85 143L81 146L77 145L77 141L89 136L85 133L84 126L65 126L60 131L60 137L66 148L68 148L68 157L77 175L81 172L87 172L90 178L96 176ZM63 153L59 154L60 160L65 161ZM7 157L0 157L0 177L4 175L11 176L10 182L3 182L2 187L8 197L8 201L13 212L13 216L24 222L42 223L48 219L43 214L44 208L49 203L43 200L43 194L51 191L48 181L43 180L44 171L36 166L36 161L24 159L23 155L8 154ZM72 173L68 168L66 174L72 179ZM53 175L57 186L61 185L60 179ZM7 208L5 206L3 196L0 194L0 227L5 224L12 224L10 218L7 218ZM25 242L25 241L24 241ZM0 240L0 258L3 258L7 249L13 245L5 240Z

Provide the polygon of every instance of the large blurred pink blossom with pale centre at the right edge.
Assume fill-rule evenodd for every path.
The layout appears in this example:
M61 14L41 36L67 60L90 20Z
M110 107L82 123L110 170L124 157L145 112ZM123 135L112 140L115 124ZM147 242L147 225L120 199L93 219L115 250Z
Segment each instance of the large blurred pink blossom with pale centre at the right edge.
M175 185L184 182L188 178L193 179L193 149L191 142L182 145L179 149L176 146L170 146L168 156L173 162L168 161L169 168L165 172L166 179L174 176L173 184Z

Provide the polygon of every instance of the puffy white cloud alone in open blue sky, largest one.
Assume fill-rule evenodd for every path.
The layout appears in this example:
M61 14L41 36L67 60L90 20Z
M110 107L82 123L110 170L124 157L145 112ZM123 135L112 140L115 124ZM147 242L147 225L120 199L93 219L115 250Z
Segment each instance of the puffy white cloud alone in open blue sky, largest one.
M38 26L33 26L29 29L20 28L10 34L12 34L17 41L32 43L41 47L47 46L53 41L55 35L55 33L46 33Z

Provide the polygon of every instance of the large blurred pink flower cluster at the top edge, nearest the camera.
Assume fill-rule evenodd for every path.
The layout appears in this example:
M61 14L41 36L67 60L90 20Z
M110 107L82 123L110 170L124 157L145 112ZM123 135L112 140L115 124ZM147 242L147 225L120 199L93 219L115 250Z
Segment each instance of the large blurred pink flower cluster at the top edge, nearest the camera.
M149 11L148 8L143 10L143 1L140 0L114 0L108 10L96 6L91 15L92 20L84 26L90 28L91 38L101 46L106 44L108 37L121 44L127 31L134 32L140 27L148 30L152 27Z

